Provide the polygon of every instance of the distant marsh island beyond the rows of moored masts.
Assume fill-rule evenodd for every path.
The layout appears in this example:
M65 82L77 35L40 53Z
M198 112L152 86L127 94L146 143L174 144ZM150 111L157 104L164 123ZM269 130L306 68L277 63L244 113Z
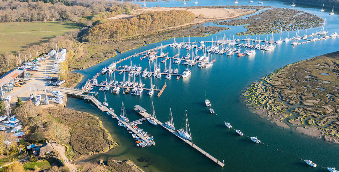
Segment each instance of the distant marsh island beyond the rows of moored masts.
M283 31L294 31L298 29L308 29L319 27L323 19L296 9L272 8L262 11L244 19L218 22L219 25L239 26L245 25L247 30L236 35L256 35L278 33Z

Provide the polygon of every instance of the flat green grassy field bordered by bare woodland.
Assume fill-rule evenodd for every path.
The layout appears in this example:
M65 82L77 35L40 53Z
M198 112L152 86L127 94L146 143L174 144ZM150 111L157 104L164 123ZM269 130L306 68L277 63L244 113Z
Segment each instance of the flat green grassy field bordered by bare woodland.
M0 23L0 54L15 53L79 28L81 27L70 21Z

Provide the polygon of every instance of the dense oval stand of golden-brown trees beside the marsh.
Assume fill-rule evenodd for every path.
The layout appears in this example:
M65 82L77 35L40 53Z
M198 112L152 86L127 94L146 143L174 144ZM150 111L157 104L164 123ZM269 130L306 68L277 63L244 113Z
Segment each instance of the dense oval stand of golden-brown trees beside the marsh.
M168 27L190 23L195 15L185 10L154 11L129 19L105 20L88 30L83 41L120 39L140 34L151 34Z

